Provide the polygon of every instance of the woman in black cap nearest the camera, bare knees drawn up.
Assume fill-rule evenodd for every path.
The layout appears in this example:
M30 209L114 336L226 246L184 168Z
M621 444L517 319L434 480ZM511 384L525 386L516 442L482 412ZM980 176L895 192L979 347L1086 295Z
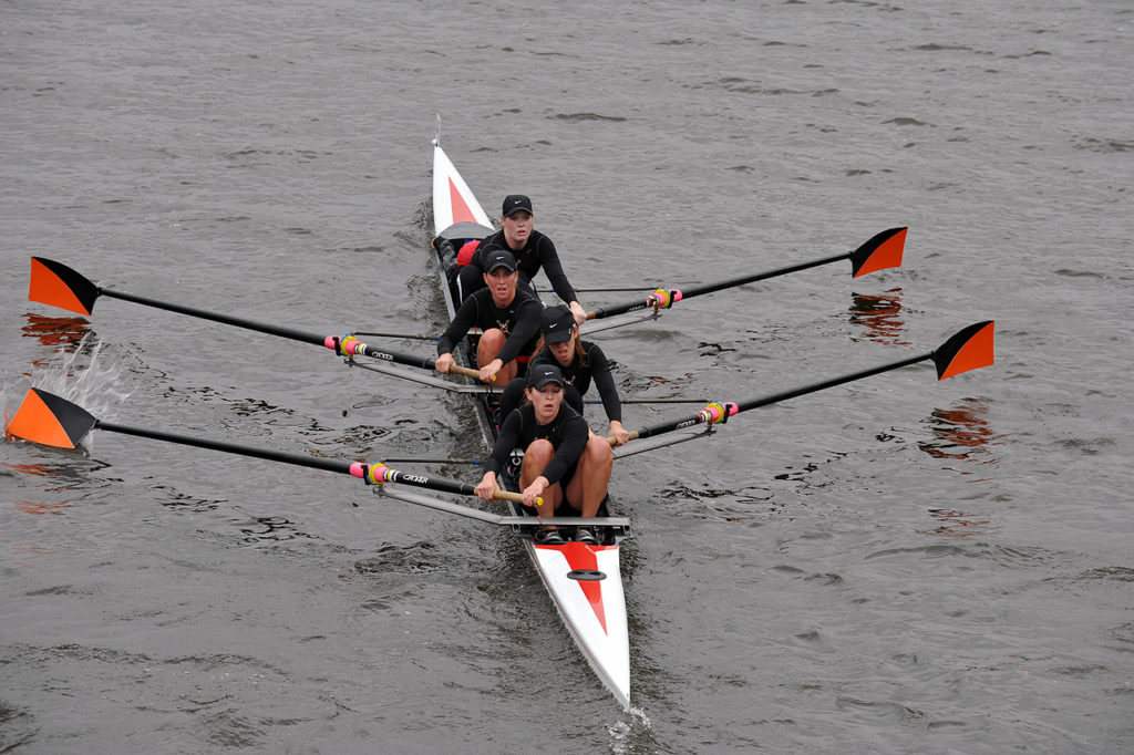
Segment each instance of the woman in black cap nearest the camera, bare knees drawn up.
M551 516L566 502L584 517L596 516L607 498L615 460L610 443L593 435L582 415L564 402L564 376L555 365L528 368L525 395L530 404L509 414L500 426L476 494L492 500L499 487L497 473L508 464L513 449L522 448L519 487L525 506L533 506L542 497L542 515ZM541 531L538 540L548 544L564 542L556 527ZM596 542L587 527L578 527L575 540Z

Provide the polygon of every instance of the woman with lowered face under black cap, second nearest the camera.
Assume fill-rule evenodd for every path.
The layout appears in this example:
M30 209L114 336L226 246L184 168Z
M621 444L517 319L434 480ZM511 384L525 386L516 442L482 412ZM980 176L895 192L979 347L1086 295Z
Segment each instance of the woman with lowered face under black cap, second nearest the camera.
M536 364L559 367L565 383L564 399L579 414L583 414L583 396L593 381L610 423L607 434L616 446L627 442L631 436L623 427L623 404L618 399L618 389L602 349L578 337L578 325L565 306L547 307L540 313L540 332L544 346L532 356L528 368ZM508 383L500 401L500 416L507 417L511 409L521 405L524 400L524 381L519 378Z

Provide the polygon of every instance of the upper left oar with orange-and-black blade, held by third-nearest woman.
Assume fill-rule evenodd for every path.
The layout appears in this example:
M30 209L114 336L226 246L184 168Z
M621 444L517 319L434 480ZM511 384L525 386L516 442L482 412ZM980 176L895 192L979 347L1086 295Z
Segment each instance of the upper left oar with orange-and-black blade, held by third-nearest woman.
M147 307L168 309L169 312L177 312L178 314L189 315L191 317L212 320L213 322L220 322L226 325L235 325L246 330L254 330L261 333L268 333L269 336L279 336L280 338L288 338L293 341L301 341L303 343L325 346L340 356L362 355L374 359L396 362L397 364L405 364L412 367L422 367L424 370L433 370L435 365L435 360L429 357L391 351L390 349L374 348L366 346L353 336L320 336L319 333L308 333L306 331L286 328L284 325L255 322L253 320L235 317L219 312L209 312L208 309L188 307L183 304L161 302L145 296L137 296L136 294L116 291L113 289L99 286L94 281L84 278L82 273L68 268L61 262L46 260L44 257L32 257L32 279L27 291L27 298L31 300L68 309L77 314L90 315L94 311L94 303L100 296L109 296L116 299L134 302L135 304L142 304ZM479 371L469 370L468 367L454 366L451 372L460 375L467 375L469 378L480 376Z

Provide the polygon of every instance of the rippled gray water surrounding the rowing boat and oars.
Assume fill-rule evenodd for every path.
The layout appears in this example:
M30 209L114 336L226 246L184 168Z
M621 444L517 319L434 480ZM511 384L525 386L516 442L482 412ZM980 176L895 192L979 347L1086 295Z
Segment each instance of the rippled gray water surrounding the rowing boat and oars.
M628 712L505 532L121 434L6 441L0 752L1129 752L1132 22L1082 0L7 0L7 415L34 384L296 453L483 455L460 397L323 349L27 300L39 255L301 330L435 334L438 113L490 213L530 194L583 289L909 227L898 270L596 336L626 396L744 400L985 319L997 364L619 461Z

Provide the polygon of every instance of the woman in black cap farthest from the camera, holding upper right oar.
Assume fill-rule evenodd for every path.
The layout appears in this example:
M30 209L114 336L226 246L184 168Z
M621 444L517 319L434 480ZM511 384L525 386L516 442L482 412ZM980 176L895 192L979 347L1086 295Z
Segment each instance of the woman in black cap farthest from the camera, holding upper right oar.
M484 271L484 255L493 249L507 249L516 255L521 280L534 294L532 281L542 268L551 282L551 288L572 311L577 324L586 321L586 311L578 303L575 289L564 273L556 245L544 234L535 230L535 213L532 200L523 194L509 194L500 209L500 230L481 241L468 264L459 272L459 294L464 299L483 287L481 273Z

